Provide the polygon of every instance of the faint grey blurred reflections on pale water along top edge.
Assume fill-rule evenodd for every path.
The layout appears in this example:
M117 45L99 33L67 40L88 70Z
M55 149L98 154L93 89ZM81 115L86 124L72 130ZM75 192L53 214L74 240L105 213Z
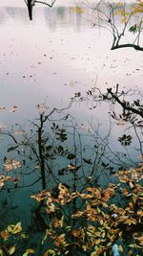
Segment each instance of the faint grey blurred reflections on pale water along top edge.
M41 19L44 19L51 32L59 27L66 28L69 26L80 31L83 27L90 27L90 25L92 25L92 20L89 20L88 22L88 19L90 18L90 9L85 7L82 8L82 12L76 12L75 8L64 6L55 7L52 8L52 10L48 7L40 7L34 11L35 13L32 22L34 23L35 20L41 21ZM26 26L26 24L30 25L27 8L12 6L0 8L0 24L9 22L13 22L13 24L19 26L21 24L24 26Z

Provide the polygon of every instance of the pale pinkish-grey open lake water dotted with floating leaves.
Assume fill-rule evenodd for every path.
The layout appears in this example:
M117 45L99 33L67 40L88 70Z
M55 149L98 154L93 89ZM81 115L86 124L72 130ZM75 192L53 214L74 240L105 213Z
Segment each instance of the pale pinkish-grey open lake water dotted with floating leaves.
M87 91L96 86L106 92L107 87L118 83L124 90L136 88L142 97L143 53L133 49L111 51L111 35L94 27L93 12L83 2L75 2L83 12L76 12L73 1L59 0L51 9L36 5L30 21L24 1L0 1L0 107L5 108L0 111L0 122L10 130L14 124L37 118L37 104L46 103L48 111L64 108L80 93L84 100L78 101L77 97L67 110L74 124L86 132L91 132L89 124L100 125L102 137L112 126L112 151L127 153L135 162L138 151L133 148L138 149L137 140L128 151L118 142L128 125L117 126L109 118L109 105L95 107ZM14 112L13 106L17 106ZM10 141L2 136L0 142L2 166L2 147L6 150ZM90 142L85 139L85 143ZM9 200L25 208L19 197L27 200L31 189L27 194L20 191L13 199L14 193L9 194Z

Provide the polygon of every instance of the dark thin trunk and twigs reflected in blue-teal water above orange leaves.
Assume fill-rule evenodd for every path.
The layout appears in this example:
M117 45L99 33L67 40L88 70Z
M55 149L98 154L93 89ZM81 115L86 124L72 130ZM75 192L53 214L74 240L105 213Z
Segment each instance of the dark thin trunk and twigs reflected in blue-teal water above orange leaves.
M94 98L95 92L91 91L91 96L93 101L112 103L111 92L112 89L108 89L107 94L102 94L101 97L100 92L100 96ZM118 97L117 92L112 95ZM130 154L112 148L112 123L106 134L103 134L99 124L78 125L73 117L65 112L73 101L74 99L68 108L53 108L51 112L46 105L37 105L39 118L30 122L28 130L17 124L11 131L2 128L1 134L8 135L11 139L11 145L4 158L2 175L11 174L14 170L12 179L15 187L36 188L36 184L39 184L38 188L44 190L62 182L70 186L72 191L77 187L82 191L89 184L103 186L117 170L126 170L136 165ZM121 121L130 122L132 126L128 131L134 130L139 142L137 151L142 154L142 121L137 118L136 113L134 117L132 108L142 113L139 104L138 110L133 106L129 109L128 106L128 109L123 108L122 114L117 114L112 109L111 116L119 124ZM125 148L132 144L132 139L132 135L126 133L118 137L118 141ZM10 186L9 189L11 188Z

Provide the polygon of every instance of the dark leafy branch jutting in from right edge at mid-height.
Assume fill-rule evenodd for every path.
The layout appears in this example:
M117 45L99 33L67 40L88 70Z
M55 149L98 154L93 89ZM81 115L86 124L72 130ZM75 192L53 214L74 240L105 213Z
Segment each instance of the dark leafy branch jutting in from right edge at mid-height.
M125 133L118 141L122 146L128 148L132 145L133 137L136 138L138 146L133 148L137 154L143 154L143 105L141 103L142 95L140 91L130 89L126 91L119 90L119 84L116 84L113 91L107 88L107 92L103 93L97 87L87 92L88 99L92 99L94 105L107 102L110 105L110 115L115 124L119 127L125 127ZM136 99L134 99L136 96ZM83 99L85 100L85 99Z

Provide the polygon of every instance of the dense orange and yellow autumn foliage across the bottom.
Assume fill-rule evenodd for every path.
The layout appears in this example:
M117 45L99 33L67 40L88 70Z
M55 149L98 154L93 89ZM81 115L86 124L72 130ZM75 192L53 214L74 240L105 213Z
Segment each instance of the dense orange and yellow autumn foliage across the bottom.
M113 244L120 255L141 256L143 250L143 165L120 171L108 187L88 187L84 193L63 184L42 191L34 198L46 223L43 256L112 255ZM0 255L19 255L19 240L25 240L21 223L0 233ZM37 255L25 248L21 255Z

